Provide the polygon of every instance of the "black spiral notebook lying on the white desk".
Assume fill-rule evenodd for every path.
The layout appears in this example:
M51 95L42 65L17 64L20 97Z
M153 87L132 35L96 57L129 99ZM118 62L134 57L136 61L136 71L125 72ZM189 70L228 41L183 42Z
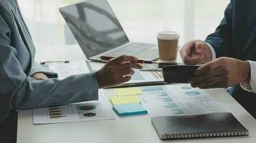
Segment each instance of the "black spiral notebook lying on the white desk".
M249 131L229 112L152 117L161 139L247 136Z

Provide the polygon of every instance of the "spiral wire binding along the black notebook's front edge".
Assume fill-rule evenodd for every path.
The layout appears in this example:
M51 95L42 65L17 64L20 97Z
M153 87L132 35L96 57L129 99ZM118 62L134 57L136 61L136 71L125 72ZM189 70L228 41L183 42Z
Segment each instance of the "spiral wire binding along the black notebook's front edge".
M232 136L246 136L248 131L226 131L226 132L199 132L186 134L163 134L163 139L185 139L185 138L202 138L202 137L232 137Z

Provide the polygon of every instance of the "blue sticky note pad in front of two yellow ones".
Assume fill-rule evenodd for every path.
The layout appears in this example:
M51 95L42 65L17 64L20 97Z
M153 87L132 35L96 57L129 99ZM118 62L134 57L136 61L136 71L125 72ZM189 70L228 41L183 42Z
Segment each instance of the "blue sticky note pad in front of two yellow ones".
M140 103L116 104L113 105L113 109L119 116L147 114L147 109L142 107Z

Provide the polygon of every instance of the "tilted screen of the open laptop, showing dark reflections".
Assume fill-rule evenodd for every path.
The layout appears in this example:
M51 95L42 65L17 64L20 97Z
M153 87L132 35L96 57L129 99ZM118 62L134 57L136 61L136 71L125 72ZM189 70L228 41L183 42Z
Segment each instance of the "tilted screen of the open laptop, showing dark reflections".
M87 58L129 42L106 0L88 0L60 8Z

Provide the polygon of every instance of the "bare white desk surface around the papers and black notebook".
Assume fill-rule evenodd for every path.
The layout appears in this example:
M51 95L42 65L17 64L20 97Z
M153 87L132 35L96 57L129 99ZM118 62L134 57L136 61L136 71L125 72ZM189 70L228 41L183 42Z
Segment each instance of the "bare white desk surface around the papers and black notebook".
M101 64L93 63L93 69L98 69L99 66ZM110 89L104 90L106 96L110 96L107 94ZM17 143L256 142L256 119L243 109L224 89L209 89L207 92L211 94L225 111L232 112L237 117L239 122L250 131L249 137L162 141L158 137L147 114L130 117L119 117L115 114L116 119L112 120L34 125L32 110L24 110L19 112ZM109 106L111 106L110 102Z

